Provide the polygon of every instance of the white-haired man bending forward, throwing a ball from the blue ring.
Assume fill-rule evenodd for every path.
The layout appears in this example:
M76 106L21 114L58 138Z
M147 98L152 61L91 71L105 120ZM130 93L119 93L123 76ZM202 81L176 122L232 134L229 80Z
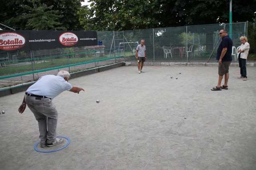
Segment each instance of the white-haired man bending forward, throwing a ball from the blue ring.
M28 108L34 113L38 121L41 147L52 147L63 142L63 139L56 138L56 128L58 121L58 111L52 100L60 93L68 90L79 94L83 88L73 87L68 83L70 74L67 71L60 71L57 76L46 75L30 86L25 93L23 102L18 108L23 113ZM48 127L47 127L48 126Z

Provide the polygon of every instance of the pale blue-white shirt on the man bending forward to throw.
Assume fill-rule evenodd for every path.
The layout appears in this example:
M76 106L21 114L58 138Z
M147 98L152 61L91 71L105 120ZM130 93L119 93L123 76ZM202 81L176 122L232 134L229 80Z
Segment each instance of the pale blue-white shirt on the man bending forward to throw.
M62 76L46 75L40 77L26 92L53 99L72 87Z

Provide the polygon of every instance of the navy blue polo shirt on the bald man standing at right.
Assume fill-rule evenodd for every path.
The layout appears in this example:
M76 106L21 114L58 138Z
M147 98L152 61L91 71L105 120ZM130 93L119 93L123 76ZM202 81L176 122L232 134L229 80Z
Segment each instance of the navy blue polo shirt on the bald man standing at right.
M228 48L226 54L222 58L222 61L232 61L232 46L233 46L232 39L228 35L226 35L222 39L222 41L217 49L216 60L218 60L218 61L220 60L220 55L221 55L222 49Z

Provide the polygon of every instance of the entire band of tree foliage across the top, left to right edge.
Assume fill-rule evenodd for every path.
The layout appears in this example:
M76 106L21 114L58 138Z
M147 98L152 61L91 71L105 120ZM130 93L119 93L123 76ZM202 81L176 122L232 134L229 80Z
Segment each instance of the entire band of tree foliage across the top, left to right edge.
M90 8L81 7L84 0L33 1L0 0L0 23L15 29L118 31L228 23L230 14L230 0L90 0ZM255 19L256 0L232 2L233 22Z

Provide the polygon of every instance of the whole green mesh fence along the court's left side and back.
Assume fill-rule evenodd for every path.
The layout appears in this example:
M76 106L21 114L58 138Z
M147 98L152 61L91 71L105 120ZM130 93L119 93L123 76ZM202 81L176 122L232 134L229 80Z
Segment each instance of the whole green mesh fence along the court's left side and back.
M136 47L145 40L147 62L216 63L226 29L235 49L240 37L247 36L247 22L192 25L131 31L97 31L102 45L38 51L0 53L0 88L37 80L58 70L78 72L120 62L136 62ZM230 33L232 30L232 33ZM236 62L236 55L234 60Z

